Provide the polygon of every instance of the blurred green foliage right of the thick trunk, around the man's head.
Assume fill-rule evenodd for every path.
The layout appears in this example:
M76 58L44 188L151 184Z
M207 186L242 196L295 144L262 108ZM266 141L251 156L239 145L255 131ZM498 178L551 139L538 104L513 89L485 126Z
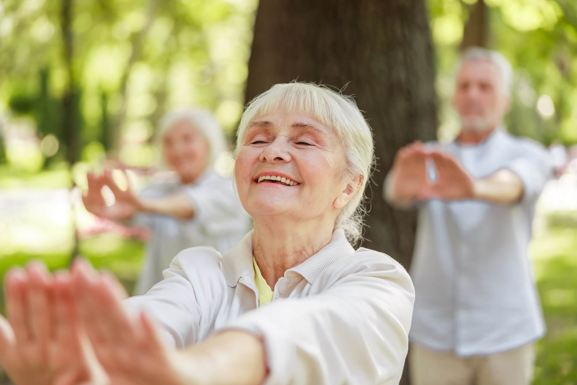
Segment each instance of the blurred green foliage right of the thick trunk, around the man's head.
M437 50L442 125L439 136L458 131L450 106L453 71L476 0L428 0ZM544 144L577 144L577 2L568 0L485 0L489 48L503 53L515 70L508 130ZM554 109L550 108L550 102Z

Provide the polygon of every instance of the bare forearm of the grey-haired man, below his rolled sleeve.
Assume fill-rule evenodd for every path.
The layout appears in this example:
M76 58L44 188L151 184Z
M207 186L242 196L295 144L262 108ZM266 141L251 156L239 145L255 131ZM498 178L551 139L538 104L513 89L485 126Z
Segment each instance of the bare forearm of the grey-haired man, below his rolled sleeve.
M474 190L475 199L513 204L523 196L523 182L512 171L499 170L489 177L475 180Z

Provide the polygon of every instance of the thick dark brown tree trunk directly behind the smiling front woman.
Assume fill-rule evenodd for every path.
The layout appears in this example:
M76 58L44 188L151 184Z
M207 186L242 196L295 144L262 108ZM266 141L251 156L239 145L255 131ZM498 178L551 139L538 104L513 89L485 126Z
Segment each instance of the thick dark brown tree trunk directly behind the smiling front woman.
M295 79L347 85L344 94L356 95L374 130L377 156L363 245L407 268L416 218L393 210L381 189L400 147L435 137L434 74L423 0L286 0L258 6L246 100Z

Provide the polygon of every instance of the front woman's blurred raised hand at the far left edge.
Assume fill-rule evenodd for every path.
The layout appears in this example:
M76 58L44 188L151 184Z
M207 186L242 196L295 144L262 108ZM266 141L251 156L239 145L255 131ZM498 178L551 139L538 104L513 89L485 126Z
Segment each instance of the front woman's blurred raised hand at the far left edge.
M8 320L0 316L0 361L18 385L107 384L74 320L70 276L41 263L5 278Z

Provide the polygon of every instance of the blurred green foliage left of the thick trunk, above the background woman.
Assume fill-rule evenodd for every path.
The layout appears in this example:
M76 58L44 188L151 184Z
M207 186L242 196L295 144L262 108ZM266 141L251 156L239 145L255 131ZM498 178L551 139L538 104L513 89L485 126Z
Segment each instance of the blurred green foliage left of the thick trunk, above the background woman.
M68 90L81 147L100 141L127 163L150 152L167 110L204 106L233 132L257 0L73 1L70 54L63 1L2 3L0 114L34 118L40 139L58 137L60 157L72 145L62 132Z

